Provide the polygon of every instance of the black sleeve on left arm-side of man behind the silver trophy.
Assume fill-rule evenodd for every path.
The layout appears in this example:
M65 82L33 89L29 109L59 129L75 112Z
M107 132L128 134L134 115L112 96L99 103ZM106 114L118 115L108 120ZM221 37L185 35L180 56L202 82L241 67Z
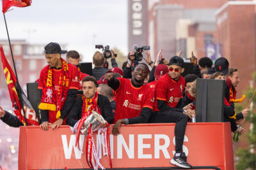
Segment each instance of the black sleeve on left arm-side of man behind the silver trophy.
M78 121L77 119L79 118L79 105L80 104L81 104L81 98L76 100L74 106L70 110L67 120L66 120L67 125L74 127L74 125Z

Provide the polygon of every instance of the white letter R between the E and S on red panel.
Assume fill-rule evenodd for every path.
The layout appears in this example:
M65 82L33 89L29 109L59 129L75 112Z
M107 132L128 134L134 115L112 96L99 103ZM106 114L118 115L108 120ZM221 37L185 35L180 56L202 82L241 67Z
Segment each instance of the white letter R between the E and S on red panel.
M164 139L164 145L160 145L160 139ZM162 150L165 159L170 159L167 148L170 145L170 138L165 134L155 134L155 159L159 159Z

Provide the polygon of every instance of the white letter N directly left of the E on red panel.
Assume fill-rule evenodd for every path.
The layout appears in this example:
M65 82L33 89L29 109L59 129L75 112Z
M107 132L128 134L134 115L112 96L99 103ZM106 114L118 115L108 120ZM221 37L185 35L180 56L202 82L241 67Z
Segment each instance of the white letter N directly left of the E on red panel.
M124 146L125 152L129 159L134 159L134 134L129 134L129 148L125 143L124 137L122 134L118 134L117 136L117 159L122 159Z

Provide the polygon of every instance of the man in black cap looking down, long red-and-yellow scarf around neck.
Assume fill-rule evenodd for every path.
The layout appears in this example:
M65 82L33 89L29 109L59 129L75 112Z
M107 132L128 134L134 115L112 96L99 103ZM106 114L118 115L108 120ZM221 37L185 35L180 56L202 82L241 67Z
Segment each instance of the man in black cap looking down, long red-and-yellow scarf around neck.
M79 74L77 67L61 59L61 53L67 53L58 43L49 43L45 46L45 58L48 65L41 73L38 89L42 90L41 129L48 130L65 124L68 111L74 103L79 89Z

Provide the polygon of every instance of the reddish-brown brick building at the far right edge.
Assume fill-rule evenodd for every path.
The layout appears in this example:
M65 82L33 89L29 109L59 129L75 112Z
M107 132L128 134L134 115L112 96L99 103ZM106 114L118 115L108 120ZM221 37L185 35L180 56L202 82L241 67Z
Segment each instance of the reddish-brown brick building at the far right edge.
M218 39L230 67L237 67L241 83L239 96L249 86L256 66L255 2L228 1L216 11Z

